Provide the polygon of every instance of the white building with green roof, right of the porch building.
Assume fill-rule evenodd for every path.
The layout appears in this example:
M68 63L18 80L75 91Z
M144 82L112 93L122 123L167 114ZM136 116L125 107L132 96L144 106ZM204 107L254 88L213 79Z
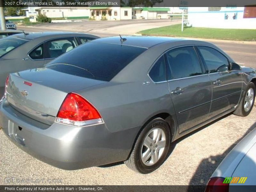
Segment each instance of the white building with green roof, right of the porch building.
M132 19L168 19L170 8L140 7L132 9Z

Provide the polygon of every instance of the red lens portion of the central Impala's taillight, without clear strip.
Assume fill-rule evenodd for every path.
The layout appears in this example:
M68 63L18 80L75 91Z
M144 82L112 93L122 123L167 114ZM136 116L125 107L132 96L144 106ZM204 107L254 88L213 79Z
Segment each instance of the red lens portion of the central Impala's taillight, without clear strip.
M72 121L88 121L101 118L97 109L76 93L68 93L57 117Z

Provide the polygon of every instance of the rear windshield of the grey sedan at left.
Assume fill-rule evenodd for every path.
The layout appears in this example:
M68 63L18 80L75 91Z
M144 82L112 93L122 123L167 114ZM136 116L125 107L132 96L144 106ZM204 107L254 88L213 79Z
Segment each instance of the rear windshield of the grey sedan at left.
M0 40L0 57L5 53L12 51L16 47L28 42L24 39L19 39L15 37L6 37Z

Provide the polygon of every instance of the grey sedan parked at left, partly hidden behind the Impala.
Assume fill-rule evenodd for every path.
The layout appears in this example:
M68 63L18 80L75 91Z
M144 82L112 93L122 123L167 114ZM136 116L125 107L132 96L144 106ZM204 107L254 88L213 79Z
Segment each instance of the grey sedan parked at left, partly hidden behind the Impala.
M0 39L0 97L8 74L44 67L63 53L97 38L83 33L25 32Z

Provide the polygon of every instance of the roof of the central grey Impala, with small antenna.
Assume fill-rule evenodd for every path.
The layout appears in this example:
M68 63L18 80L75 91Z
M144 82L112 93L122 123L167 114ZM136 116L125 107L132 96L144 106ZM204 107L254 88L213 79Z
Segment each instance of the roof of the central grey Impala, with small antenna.
M94 43L109 43L109 44L122 44L128 46L136 46L143 48L150 48L157 44L162 44L166 42L174 42L174 41L184 41L186 39L174 38L174 37L158 37L158 36L122 36L124 40L121 41L120 36L114 37L105 37L101 39L96 39Z

